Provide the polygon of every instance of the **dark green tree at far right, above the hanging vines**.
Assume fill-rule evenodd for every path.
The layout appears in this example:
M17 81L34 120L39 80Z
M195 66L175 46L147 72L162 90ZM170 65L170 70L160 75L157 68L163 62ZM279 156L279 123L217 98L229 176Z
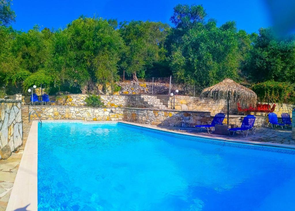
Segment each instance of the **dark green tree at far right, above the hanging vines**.
M276 38L271 28L261 28L245 69L255 82L295 83L294 35Z

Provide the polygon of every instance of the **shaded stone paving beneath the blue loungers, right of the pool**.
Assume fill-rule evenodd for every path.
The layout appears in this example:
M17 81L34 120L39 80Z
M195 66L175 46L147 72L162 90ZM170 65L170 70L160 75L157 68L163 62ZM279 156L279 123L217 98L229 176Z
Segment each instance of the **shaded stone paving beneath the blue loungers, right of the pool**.
M170 127L170 126L155 126L153 128L164 128L168 130L178 131L178 132L186 132L191 134L199 134L204 135L212 138L229 138L234 140L241 140L241 141L255 141L255 142L268 142L268 143L277 143L277 144L287 144L287 145L295 145L295 140L292 139L292 130L291 128L287 129L279 129L275 128L272 129L270 127L260 127L256 128L256 133L252 135L251 132L249 132L247 137L243 137L242 134L236 133L234 137L231 137L229 135L218 135L218 134L208 134L207 130L203 130L203 132L199 132L199 129L192 128L192 127Z

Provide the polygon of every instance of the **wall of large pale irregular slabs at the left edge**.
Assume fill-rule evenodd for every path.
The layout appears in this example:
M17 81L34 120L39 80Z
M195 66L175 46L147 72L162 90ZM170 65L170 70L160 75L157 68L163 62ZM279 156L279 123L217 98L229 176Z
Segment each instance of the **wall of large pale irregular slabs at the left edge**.
M0 99L0 159L7 159L21 145L21 100Z

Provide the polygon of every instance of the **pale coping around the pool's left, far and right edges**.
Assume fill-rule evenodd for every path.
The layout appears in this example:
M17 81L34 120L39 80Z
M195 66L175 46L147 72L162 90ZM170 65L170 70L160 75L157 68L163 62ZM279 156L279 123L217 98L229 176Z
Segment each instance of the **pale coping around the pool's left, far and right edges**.
M181 135L188 135L193 137L200 137L206 139L213 139L219 141L235 142L250 145L262 145L269 147L281 147L288 149L295 149L295 145L277 144L277 143L263 143L255 141L242 141L233 140L230 138L222 137L208 137L201 134L191 134L187 132L172 131L165 128L158 128L157 126L144 125L127 121L97 121L87 122L79 120L44 120L42 122L83 122L83 124L99 124L99 123L124 123L134 126L139 126L148 129L155 129L163 132L170 132ZM12 192L9 198L9 202L6 211L13 211L23 207L27 207L27 210L37 211L38 207L38 188L37 188L37 163L38 163L38 121L32 121L32 126L27 138L26 146L22 155L22 160L19 164L19 169L14 181Z

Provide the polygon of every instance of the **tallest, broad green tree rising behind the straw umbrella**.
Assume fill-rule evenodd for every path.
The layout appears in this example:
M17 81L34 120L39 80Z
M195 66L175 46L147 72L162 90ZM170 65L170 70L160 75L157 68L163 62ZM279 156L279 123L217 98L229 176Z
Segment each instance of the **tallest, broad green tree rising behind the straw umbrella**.
M206 13L200 5L178 5L174 9L171 20L175 20L172 33L176 35L170 35L167 42L173 75L179 81L200 87L225 78L239 80L251 47L251 35L237 31L235 22L226 22L221 27L217 27L215 20L205 22Z

